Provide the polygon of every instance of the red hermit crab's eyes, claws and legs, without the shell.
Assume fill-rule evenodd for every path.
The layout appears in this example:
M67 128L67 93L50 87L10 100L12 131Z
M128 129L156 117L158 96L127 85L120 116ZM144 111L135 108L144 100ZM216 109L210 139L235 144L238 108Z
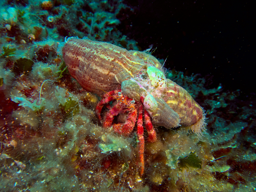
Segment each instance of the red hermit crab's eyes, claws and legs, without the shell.
M126 118L125 123L118 123L114 124L113 129L115 132L121 135L129 135L132 130L134 129L135 123L137 121L137 136L139 141L139 154L140 154L140 163L142 164L142 168L140 173L143 174L144 172L144 128L143 128L143 105L144 98L140 98L140 102L136 102L134 99L130 99L127 96L122 95L122 89L116 89L114 91L110 91L103 95L103 99L98 103L96 107L96 112L98 114L99 119L101 119L101 110L102 107L113 101L114 99L119 100L119 102L112 107L105 116L103 127L110 127L114 120L114 117L120 113L128 112L128 117ZM139 115L138 115L139 114ZM146 129L148 131L148 141L155 142L156 141L156 132L153 129L150 115L146 110L144 110L144 117L145 117L145 124Z

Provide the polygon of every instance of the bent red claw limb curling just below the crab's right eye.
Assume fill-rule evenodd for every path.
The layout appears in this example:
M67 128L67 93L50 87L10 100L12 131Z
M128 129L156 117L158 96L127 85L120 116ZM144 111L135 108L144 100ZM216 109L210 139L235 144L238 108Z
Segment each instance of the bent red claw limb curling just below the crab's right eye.
M121 135L129 135L136 123L137 120L137 110L132 109L132 111L128 114L128 117L126 118L125 123L122 124L116 124L113 126L114 131Z

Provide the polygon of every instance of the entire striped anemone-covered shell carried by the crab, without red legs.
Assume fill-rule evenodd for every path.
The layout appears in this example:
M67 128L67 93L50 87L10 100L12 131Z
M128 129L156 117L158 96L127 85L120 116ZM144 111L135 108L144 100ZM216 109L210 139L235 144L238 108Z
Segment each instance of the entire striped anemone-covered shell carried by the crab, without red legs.
M62 55L68 71L86 91L100 95L122 85L123 95L135 101L145 98L143 105L154 125L190 126L197 134L204 130L202 107L185 89L165 78L152 55L78 38L65 41Z

